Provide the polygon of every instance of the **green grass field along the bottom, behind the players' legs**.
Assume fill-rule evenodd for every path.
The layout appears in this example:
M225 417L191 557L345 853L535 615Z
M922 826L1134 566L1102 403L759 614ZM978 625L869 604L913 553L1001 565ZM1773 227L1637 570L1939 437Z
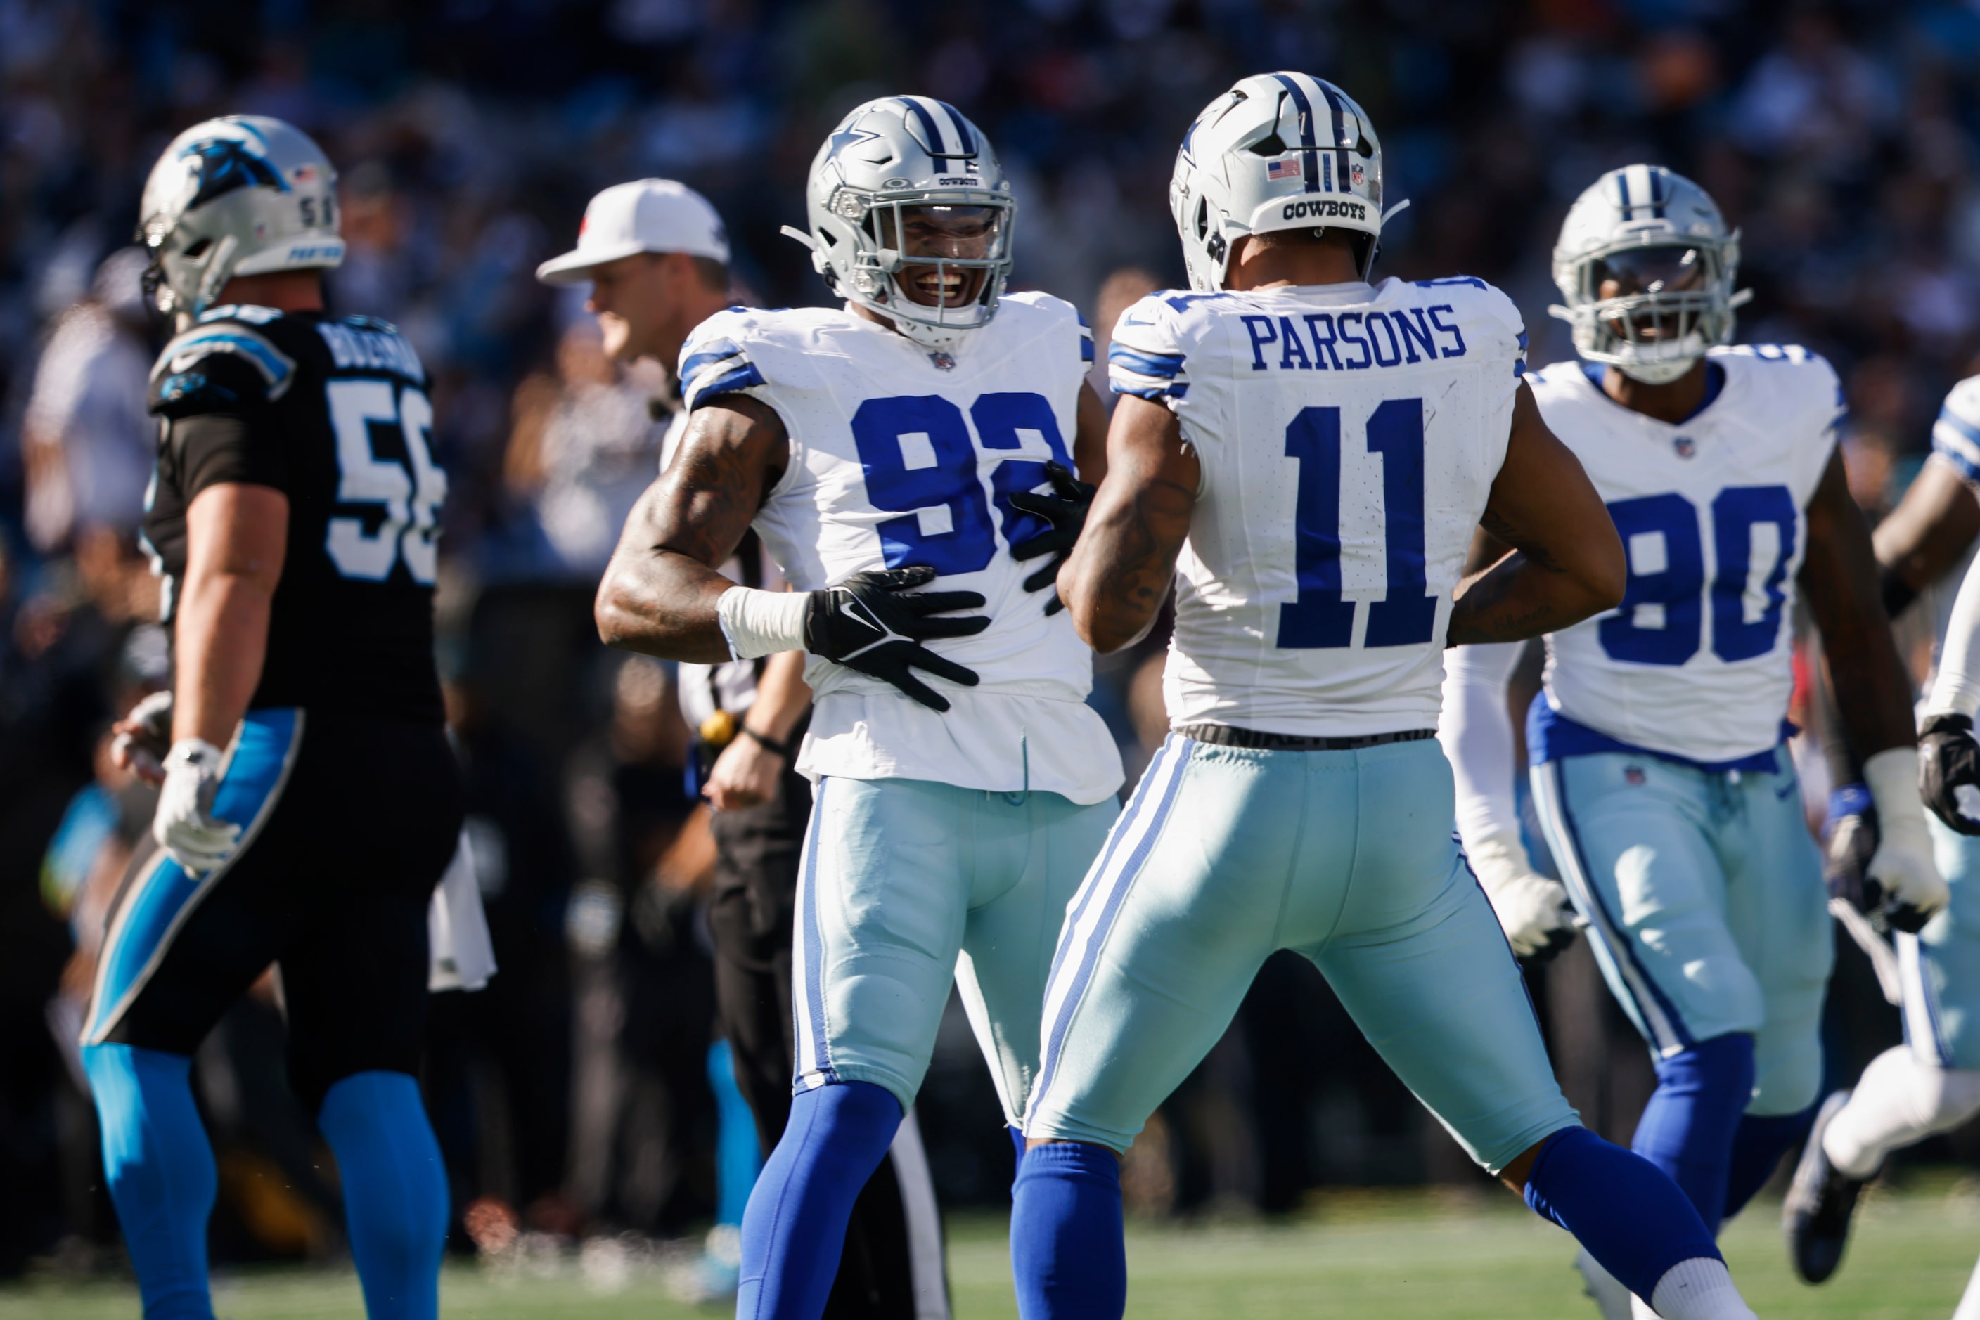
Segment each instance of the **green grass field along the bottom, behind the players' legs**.
M1871 1199L1849 1261L1830 1284L1788 1274L1780 1207L1762 1201L1725 1235L1727 1257L1760 1316L1946 1320L1980 1253L1980 1193L1970 1183L1921 1179L1905 1195ZM1338 1193L1283 1227L1170 1227L1129 1231L1129 1314L1152 1320L1279 1320L1301 1316L1475 1316L1590 1320L1568 1261L1572 1241L1511 1197L1483 1203L1436 1193ZM958 1320L1014 1316L1004 1225L966 1219L950 1231ZM224 1320L360 1320L348 1273L236 1274L216 1288ZM556 1276L495 1278L455 1267L442 1312L475 1320L707 1320L721 1308L683 1306L655 1276L616 1292L588 1286L576 1267ZM113 1284L36 1282L0 1288L6 1320L129 1320L137 1292Z

